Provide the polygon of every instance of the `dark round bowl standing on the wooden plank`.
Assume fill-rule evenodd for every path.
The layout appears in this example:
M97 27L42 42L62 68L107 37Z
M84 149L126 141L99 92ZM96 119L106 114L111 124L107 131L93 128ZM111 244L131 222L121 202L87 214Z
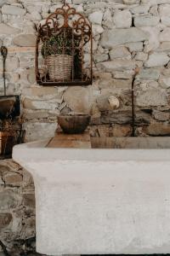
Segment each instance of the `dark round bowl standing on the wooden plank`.
M57 119L60 128L67 134L82 133L90 122L88 114L59 115Z

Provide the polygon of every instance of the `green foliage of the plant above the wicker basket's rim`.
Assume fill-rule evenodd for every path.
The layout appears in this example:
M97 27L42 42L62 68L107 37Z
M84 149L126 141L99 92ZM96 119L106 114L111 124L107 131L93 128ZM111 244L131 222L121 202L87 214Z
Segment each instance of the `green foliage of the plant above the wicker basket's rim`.
M42 44L42 56L45 58L49 55L71 55L71 49L70 37L64 37L63 34L54 35Z

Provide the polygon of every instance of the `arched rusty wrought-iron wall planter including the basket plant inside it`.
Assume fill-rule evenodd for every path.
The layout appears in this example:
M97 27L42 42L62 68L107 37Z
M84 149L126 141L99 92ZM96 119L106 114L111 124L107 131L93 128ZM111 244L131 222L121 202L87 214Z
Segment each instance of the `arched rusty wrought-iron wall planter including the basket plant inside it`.
M38 27L37 83L42 85L92 84L92 26L69 4L56 9ZM86 50L86 52L85 52ZM89 55L85 62L84 55ZM86 58L87 59L87 58Z

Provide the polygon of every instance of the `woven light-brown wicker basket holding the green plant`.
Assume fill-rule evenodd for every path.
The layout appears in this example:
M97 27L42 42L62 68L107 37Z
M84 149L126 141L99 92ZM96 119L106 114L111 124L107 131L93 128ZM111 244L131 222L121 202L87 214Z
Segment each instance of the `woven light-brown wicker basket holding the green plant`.
M71 79L71 55L49 55L46 58L46 63L50 80L65 81Z

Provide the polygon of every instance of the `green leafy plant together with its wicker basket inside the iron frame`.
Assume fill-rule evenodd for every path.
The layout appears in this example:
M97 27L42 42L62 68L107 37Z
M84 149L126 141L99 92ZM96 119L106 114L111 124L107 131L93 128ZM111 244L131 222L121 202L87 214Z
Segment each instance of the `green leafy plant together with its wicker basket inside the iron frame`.
M79 63L79 40L72 36L71 31L60 32L43 42L42 57L48 70L45 79L62 82L71 80L72 70L75 73L76 62Z

